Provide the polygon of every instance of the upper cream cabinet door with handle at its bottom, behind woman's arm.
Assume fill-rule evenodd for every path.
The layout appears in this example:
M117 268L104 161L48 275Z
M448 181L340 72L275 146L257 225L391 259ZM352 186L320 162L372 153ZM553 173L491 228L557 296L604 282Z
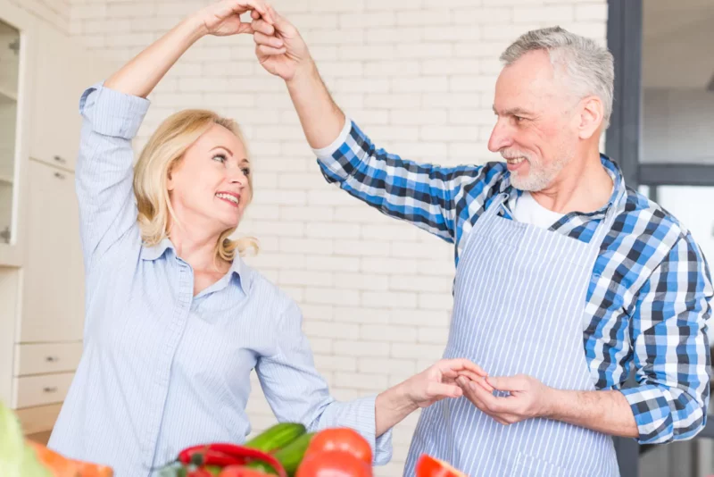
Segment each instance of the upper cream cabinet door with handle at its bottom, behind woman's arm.
M74 171L79 150L79 97L105 79L108 64L62 32L39 29L29 155Z

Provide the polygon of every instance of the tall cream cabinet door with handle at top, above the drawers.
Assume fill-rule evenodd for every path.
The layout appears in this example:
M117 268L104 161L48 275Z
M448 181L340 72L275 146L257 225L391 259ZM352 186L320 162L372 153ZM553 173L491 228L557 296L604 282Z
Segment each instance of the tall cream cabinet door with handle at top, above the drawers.
M74 174L29 161L27 221L20 340L80 340L84 268Z

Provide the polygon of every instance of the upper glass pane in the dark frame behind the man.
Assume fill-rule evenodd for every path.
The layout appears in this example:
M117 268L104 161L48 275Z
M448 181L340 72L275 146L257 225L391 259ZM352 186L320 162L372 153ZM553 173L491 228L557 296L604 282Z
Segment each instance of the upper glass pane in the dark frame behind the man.
M714 2L643 1L642 163L714 164Z

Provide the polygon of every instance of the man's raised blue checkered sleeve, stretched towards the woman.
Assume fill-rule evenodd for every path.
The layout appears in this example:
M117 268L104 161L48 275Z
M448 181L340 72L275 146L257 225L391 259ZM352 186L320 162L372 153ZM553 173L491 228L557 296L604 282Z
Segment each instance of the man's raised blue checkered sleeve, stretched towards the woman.
M341 140L343 139L344 140ZM454 242L460 211L484 192L496 174L484 166L441 167L415 163L375 147L350 120L343 137L315 151L325 179L353 197L391 217L412 222L448 242Z

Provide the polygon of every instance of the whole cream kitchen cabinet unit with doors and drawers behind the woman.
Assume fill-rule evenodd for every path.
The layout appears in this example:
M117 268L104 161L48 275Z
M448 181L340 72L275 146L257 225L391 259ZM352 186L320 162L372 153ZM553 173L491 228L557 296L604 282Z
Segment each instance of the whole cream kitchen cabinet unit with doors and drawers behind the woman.
M40 432L52 429L82 354L79 97L112 67L17 4L0 0L0 234L12 223L11 243L0 235L0 399ZM15 58L4 43L18 31Z

